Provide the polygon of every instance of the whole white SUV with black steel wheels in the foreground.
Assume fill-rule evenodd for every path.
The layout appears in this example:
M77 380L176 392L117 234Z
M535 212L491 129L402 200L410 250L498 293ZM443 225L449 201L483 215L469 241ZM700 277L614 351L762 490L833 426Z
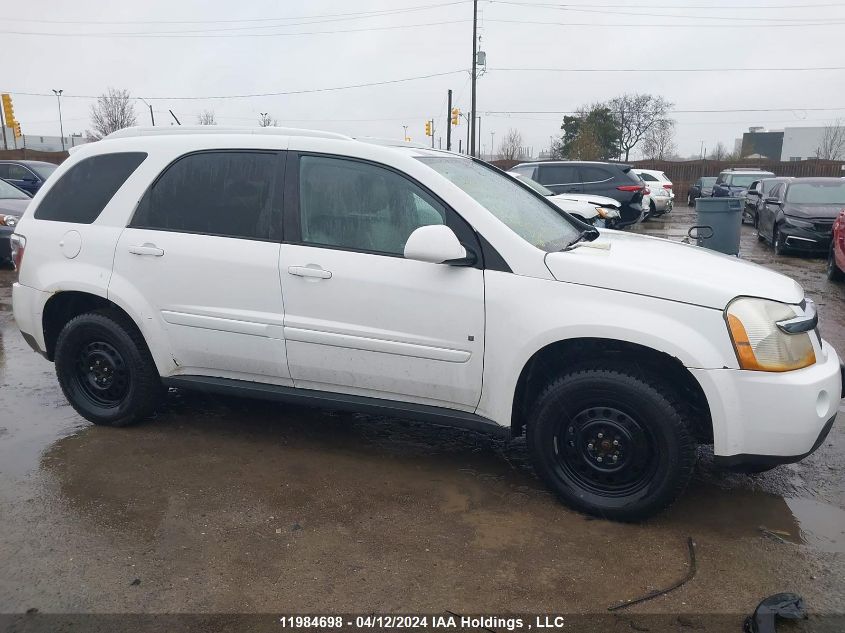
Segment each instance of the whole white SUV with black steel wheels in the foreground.
M667 506L696 444L763 470L824 439L833 348L787 277L598 231L466 156L286 129L84 145L14 236L14 313L95 424L163 386L527 434L569 505Z

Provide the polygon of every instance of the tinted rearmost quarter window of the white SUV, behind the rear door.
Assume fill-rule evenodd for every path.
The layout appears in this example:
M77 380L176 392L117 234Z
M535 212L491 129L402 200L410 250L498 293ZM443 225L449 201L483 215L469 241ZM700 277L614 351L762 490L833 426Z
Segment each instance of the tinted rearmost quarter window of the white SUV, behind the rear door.
M50 188L35 218L91 224L146 157L144 152L123 152L79 161Z

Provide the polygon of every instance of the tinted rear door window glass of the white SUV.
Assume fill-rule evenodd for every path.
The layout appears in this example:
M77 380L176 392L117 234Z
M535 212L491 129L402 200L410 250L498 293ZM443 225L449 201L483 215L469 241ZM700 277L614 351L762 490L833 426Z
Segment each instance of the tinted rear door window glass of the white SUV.
M173 163L144 194L130 226L275 239L281 182L275 152L200 152Z

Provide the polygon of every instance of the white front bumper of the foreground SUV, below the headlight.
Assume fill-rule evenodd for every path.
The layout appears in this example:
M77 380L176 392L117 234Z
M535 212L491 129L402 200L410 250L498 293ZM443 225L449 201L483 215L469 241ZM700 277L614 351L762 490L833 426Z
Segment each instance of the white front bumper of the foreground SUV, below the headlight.
M836 351L823 343L818 357L810 367L783 373L690 369L710 405L720 461L756 456L784 463L818 448L843 396Z

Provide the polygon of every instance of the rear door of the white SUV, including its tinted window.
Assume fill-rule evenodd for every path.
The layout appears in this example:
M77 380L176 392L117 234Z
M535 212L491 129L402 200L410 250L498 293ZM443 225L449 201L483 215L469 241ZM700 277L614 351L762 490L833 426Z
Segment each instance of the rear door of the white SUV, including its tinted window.
M278 260L284 152L180 157L117 244L110 292L166 333L179 373L290 384Z

